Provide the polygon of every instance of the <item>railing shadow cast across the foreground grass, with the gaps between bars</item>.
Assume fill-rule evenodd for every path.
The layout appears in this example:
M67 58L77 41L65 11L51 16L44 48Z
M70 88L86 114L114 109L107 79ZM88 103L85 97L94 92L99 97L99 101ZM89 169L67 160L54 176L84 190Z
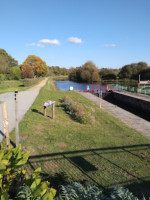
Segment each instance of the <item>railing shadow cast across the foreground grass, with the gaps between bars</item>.
M134 168L128 168L124 156L128 155L137 163L149 165L150 156L146 153L147 150L150 150L150 144L33 155L29 157L28 167L34 170L41 166L43 178L49 180L56 189L59 185L73 181L96 185L101 189L111 188L117 183L129 188L139 197L142 195L148 197L150 196L150 174L145 177L143 172L140 175L134 171ZM120 157L115 157L117 155ZM121 162L116 158L120 158ZM132 159L127 163L132 166Z

